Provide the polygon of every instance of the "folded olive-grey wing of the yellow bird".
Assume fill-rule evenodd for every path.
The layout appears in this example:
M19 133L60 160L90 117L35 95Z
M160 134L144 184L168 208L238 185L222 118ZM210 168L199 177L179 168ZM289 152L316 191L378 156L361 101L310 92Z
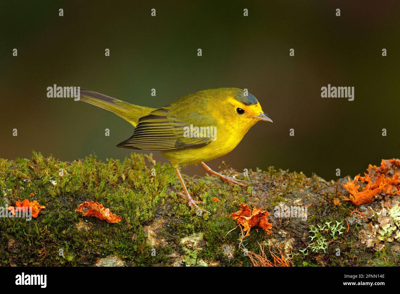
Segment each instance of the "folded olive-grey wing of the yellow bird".
M164 106L139 119L132 137L117 147L138 150L174 150L182 148L200 148L210 144L210 138L184 136L184 127L189 122L172 116L172 106Z

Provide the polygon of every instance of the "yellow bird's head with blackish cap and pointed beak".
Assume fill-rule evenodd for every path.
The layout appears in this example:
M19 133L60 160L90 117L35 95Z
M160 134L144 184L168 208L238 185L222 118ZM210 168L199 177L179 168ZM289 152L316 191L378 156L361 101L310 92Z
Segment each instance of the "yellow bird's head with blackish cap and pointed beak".
M272 122L252 94L247 93L245 95L244 91L238 88L224 89L226 89L226 94L224 95L222 111L228 120L236 124L246 125L249 128L260 120Z

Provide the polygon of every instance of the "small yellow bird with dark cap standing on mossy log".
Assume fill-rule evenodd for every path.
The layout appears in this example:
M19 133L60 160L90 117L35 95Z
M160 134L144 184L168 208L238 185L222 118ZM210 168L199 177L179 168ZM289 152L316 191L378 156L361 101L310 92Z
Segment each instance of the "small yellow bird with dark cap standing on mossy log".
M110 110L135 129L117 147L156 150L170 160L191 208L199 208L190 196L179 172L180 166L201 163L204 168L230 185L246 187L242 181L219 174L204 162L232 151L259 120L272 122L250 93L238 88L203 90L179 98L162 108L150 108L88 90L80 90L80 100ZM204 209L201 209L207 212Z

